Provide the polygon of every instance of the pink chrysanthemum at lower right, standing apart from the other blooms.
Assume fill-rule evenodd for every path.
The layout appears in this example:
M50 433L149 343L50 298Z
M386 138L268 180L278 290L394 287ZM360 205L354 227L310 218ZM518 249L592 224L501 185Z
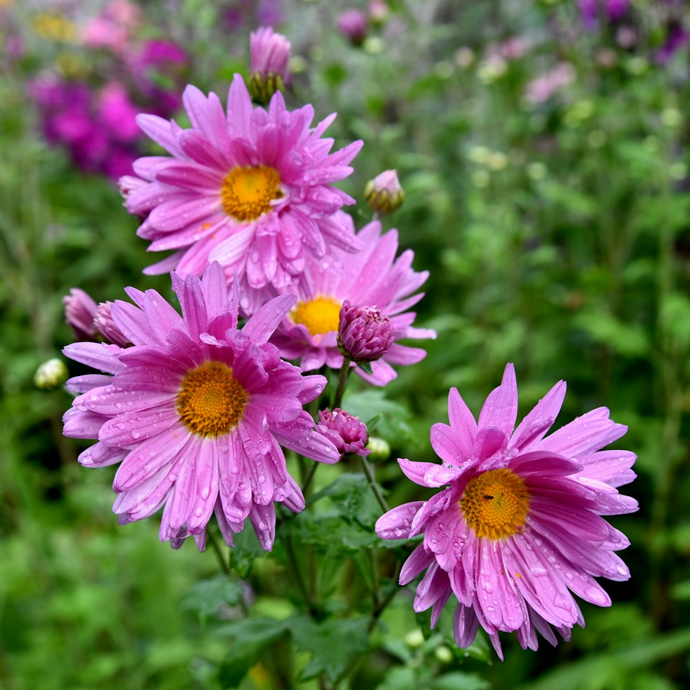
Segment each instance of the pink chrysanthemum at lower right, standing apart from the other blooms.
M517 385L513 365L486 399L475 422L451 388L449 421L431 428L442 464L398 460L421 486L446 486L428 501L398 506L380 517L383 539L424 534L404 564L400 584L426 569L415 611L433 607L431 627L454 596L455 640L469 647L481 625L503 658L499 631L517 631L523 649L551 644L555 626L566 640L584 618L573 593L609 606L593 578L627 580L613 553L629 542L601 515L637 510L615 487L635 478L629 451L602 451L627 426L598 408L544 437L560 411L563 381L555 384L513 431Z

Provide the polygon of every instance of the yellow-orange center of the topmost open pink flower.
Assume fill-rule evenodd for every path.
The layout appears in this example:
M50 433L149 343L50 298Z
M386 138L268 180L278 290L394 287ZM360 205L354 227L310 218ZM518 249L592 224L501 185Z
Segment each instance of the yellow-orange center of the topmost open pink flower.
M280 175L269 166L233 168L223 179L220 201L225 212L237 220L256 220L280 199Z

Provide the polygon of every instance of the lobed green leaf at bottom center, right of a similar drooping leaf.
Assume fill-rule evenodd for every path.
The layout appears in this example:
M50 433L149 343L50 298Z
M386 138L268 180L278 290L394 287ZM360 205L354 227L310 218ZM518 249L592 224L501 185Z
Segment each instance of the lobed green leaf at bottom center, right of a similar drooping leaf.
M368 618L326 620L322 623L302 617L288 620L297 649L311 654L302 670L302 679L326 673L326 678L335 682L368 648L368 622Z

